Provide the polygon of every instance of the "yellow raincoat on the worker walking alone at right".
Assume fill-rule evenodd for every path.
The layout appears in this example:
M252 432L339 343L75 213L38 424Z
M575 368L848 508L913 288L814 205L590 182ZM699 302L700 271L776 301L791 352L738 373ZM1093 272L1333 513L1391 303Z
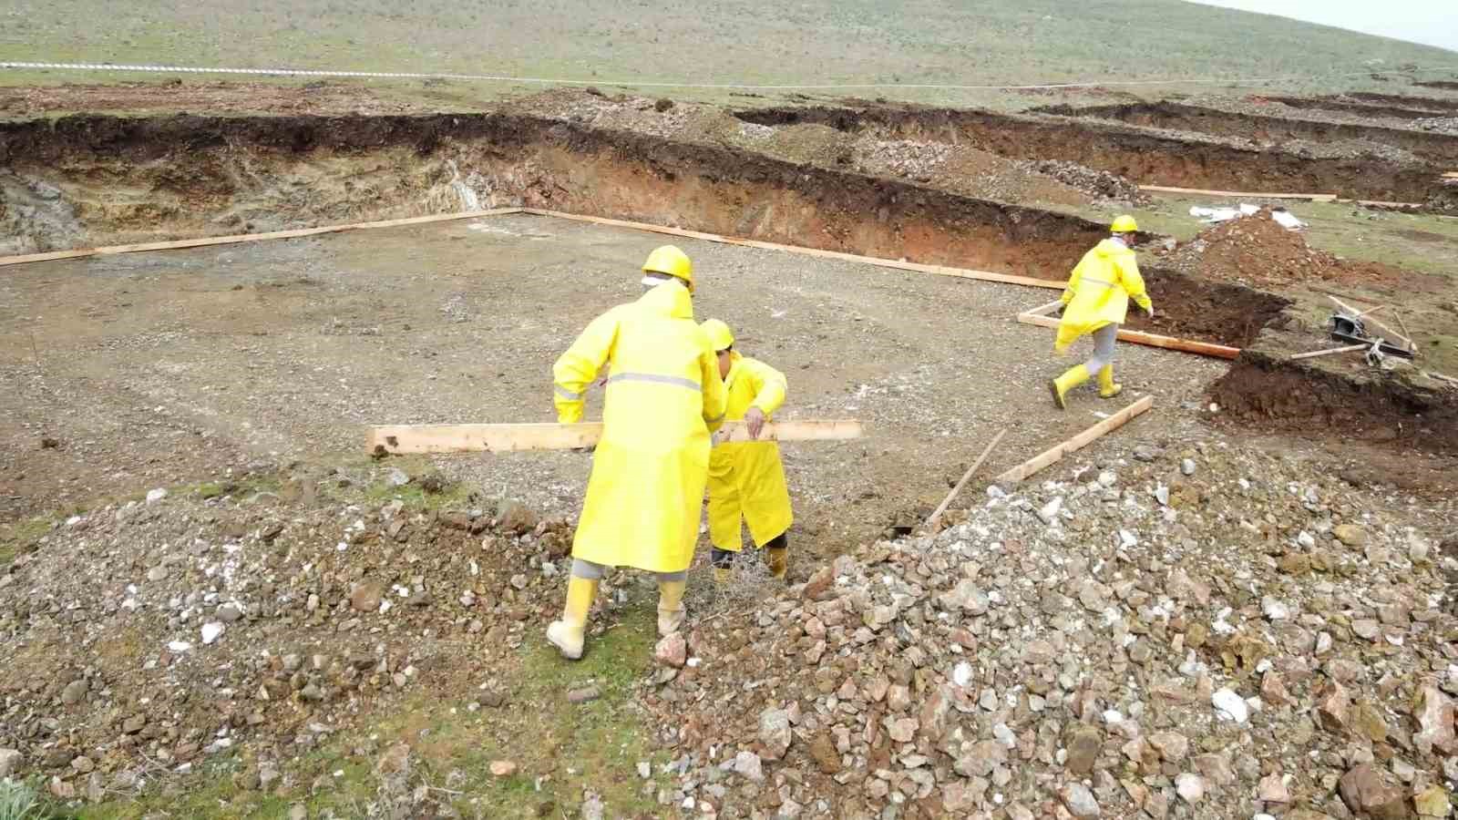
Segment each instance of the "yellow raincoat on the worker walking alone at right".
M1145 280L1139 276L1134 251L1123 242L1104 239L1083 254L1063 289L1063 320L1053 349L1063 352L1085 333L1107 324L1124 324L1128 301L1150 308Z

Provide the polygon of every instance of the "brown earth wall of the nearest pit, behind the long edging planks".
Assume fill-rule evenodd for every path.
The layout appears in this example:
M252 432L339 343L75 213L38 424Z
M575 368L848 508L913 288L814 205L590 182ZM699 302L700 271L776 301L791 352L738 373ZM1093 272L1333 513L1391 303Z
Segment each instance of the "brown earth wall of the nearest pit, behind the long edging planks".
M0 127L7 252L531 206L1061 279L1104 226L555 120L67 117Z

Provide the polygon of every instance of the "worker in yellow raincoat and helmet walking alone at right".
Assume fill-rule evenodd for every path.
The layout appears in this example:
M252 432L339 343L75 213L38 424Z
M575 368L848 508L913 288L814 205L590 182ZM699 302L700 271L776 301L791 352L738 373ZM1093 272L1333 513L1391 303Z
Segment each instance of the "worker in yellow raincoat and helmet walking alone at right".
M1095 374L1101 397L1114 398L1124 390L1114 384L1114 340L1128 312L1128 301L1155 315L1155 306L1145 293L1145 280L1139 276L1139 263L1134 261L1137 231L1133 216L1115 219L1110 226L1112 236L1083 254L1069 276L1069 286L1063 289L1063 318L1053 349L1063 353L1077 337L1092 334L1094 355L1048 382L1053 403L1060 409L1067 409L1069 391Z

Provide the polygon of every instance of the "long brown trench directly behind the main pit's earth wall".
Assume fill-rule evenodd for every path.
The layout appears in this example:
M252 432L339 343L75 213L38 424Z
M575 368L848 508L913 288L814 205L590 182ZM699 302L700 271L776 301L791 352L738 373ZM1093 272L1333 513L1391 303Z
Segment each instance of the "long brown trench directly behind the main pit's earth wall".
M738 111L735 115L760 125L811 123L841 131L876 128L892 139L965 143L1012 159L1075 162L1143 185L1442 201L1438 175L1427 163L1398 163L1375 158L1309 158L1064 117L856 105L760 108Z

